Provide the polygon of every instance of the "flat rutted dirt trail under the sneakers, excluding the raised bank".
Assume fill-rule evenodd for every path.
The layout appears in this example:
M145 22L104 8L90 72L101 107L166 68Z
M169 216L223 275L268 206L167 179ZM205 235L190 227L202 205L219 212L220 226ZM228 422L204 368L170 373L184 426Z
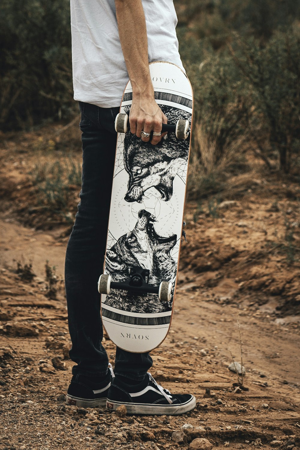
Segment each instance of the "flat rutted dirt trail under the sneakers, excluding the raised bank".
M276 445L282 449L294 446L296 450L300 442L299 329L266 314L265 305L218 302L218 296L235 292L232 279L204 289L179 284L170 333L152 352L151 372L157 381L171 392L193 392L197 410L184 417L118 418L102 409L64 405L73 365L63 360L70 345L65 300L47 299L40 278L45 259L63 273L67 238L55 245L57 231L35 232L9 222L1 225L1 266L22 255L28 261L32 255L39 279L28 284L8 268L1 269L4 432L0 449L188 449L193 438L206 437L220 448L245 449L251 443L270 448L271 442L279 440ZM181 274L181 281L185 276ZM237 376L228 370L228 348L240 360L237 319L246 366L244 386L249 388L240 394L233 393ZM113 363L115 347L109 339L104 345ZM54 369L51 361L57 356L67 370ZM44 370L42 365L48 366ZM173 432L185 423L189 428L184 428L182 441L175 442Z

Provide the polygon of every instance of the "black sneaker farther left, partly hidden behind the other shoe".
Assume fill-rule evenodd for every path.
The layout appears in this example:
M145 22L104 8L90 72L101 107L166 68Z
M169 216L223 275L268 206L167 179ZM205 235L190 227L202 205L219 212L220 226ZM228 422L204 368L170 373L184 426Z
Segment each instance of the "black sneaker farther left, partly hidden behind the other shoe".
M80 374L73 375L67 391L66 403L81 408L98 408L106 405L107 392L115 376L112 365L108 365L107 376L101 383L93 383Z

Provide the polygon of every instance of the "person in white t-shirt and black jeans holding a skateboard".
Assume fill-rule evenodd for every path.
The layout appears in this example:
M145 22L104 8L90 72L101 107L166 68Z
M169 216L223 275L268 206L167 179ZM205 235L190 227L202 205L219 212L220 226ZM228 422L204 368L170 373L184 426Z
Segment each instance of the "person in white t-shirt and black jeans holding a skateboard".
M127 81L133 89L130 131L156 145L167 122L154 100L149 62L182 67L172 0L71 0L74 99L82 131L82 188L67 244L65 284L70 358L76 363L67 403L123 404L133 414L183 414L195 397L171 394L148 373L149 353L116 348L114 372L102 345L97 281L102 273L116 150L114 120Z

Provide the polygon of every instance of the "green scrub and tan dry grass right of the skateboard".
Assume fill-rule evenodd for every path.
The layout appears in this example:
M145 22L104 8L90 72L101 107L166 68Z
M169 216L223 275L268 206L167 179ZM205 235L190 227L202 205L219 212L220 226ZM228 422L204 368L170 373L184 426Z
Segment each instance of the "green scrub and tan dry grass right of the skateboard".
M193 46L190 34L182 37L181 53L194 88L191 172L199 189L199 172L221 185L226 172L246 169L249 151L269 169L289 173L299 166L299 28L277 31L265 45L233 34L232 44L218 52L208 39ZM194 54L191 48L197 49Z

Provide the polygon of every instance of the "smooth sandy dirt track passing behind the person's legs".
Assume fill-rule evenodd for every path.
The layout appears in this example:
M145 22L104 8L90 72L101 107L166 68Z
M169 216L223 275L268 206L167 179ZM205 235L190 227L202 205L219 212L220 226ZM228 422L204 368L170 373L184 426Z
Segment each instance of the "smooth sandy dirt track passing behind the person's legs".
M48 233L0 221L3 230L0 261L9 266L13 261L32 260L33 271L39 277L45 275L45 261L57 267L57 274L63 274L67 238L58 242L59 232ZM296 367L300 367L300 335L288 327L287 319L266 317L270 306L251 308L243 304L219 305L214 297L232 296L237 283L223 281L213 289L186 289L185 284L177 289L172 330L176 338L205 338L206 342L218 347L219 355L230 359L230 349L237 358L240 342L237 320L240 324L244 363L249 369L263 372L268 377L287 380L300 387ZM265 314L267 310L267 313ZM294 318L295 320L295 318ZM184 324L184 326L182 326ZM183 339L183 338L182 338ZM196 339L195 339L196 340Z

